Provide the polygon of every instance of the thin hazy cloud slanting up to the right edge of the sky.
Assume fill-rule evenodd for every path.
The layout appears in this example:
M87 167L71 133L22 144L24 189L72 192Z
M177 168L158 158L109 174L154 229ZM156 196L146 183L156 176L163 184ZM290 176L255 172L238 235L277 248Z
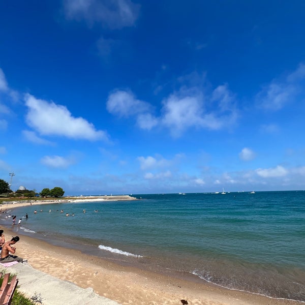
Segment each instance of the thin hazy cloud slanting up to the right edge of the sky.
M305 65L288 74L284 80L273 79L257 94L256 100L260 107L268 110L280 110L301 92L305 79Z

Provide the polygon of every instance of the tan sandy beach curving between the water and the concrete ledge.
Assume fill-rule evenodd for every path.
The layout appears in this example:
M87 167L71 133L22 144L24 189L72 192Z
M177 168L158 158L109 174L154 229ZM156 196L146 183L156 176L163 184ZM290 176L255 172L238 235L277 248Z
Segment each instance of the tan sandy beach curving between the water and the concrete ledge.
M48 202L44 202L48 203ZM53 203L53 201L52 201ZM9 207L28 205L15 203ZM37 204L42 204L38 202ZM35 205L33 202L32 205ZM5 208L5 205L2 206ZM6 240L15 235L7 228ZM272 299L247 292L229 290L205 282L192 282L159 273L114 264L88 256L80 251L50 245L47 242L19 234L16 255L28 260L33 268L70 281L82 288L92 287L96 293L120 304L181 304L190 305L284 305L298 301ZM37 287L39 293L39 287Z

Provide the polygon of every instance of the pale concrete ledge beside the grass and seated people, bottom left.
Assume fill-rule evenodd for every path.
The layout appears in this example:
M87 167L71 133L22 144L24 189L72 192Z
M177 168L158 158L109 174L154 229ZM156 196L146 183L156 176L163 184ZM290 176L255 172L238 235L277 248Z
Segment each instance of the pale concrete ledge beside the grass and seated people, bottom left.
M43 305L119 305L119 303L98 295L92 288L80 288L74 283L56 279L36 270L28 264L0 266L6 273L15 273L19 280L18 291L28 297L35 294L42 297Z

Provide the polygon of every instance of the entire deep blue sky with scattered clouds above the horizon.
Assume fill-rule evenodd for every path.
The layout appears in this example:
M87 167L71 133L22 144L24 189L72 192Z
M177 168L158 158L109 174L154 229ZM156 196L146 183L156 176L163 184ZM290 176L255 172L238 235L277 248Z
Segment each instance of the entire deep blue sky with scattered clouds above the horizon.
M303 1L0 3L0 178L65 195L305 189Z

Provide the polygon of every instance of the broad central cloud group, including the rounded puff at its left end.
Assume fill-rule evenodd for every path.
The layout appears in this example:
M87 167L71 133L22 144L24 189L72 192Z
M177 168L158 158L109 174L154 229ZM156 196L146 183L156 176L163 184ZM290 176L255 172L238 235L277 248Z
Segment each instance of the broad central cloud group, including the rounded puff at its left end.
M189 128L219 130L233 125L238 117L235 97L227 85L218 86L209 95L199 85L181 85L177 92L163 99L159 116L152 109L150 104L124 90L116 90L107 101L110 113L134 116L141 129L167 128L173 137Z

